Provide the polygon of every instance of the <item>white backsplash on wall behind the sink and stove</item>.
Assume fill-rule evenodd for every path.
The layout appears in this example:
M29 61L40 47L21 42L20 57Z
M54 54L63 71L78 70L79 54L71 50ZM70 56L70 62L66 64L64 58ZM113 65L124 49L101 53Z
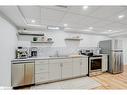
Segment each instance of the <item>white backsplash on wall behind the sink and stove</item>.
M38 57L48 57L58 55L78 54L81 49L91 49L94 53L99 53L97 47L38 47Z

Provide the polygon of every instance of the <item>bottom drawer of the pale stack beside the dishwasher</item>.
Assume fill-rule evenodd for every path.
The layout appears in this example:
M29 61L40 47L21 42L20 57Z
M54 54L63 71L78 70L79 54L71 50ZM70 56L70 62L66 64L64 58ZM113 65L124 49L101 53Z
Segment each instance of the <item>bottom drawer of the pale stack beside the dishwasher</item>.
M48 82L48 73L35 74L35 83Z

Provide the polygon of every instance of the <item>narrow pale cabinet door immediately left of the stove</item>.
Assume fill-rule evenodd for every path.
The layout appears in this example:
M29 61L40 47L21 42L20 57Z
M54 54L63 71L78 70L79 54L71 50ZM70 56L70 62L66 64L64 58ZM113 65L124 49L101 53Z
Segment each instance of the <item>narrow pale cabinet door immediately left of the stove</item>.
M82 58L81 62L81 75L87 75L88 74L88 58Z

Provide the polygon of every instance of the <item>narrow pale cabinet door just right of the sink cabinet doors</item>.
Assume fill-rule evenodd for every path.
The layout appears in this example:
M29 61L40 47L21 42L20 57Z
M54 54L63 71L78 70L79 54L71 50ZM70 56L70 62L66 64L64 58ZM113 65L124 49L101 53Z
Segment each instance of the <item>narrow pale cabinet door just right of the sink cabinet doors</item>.
M80 76L81 58L73 58L73 77Z

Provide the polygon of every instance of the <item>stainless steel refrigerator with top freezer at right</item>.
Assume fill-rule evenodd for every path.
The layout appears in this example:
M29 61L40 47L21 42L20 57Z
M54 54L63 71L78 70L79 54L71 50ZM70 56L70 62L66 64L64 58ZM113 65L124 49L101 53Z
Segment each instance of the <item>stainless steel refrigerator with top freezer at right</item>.
M100 53L108 54L108 72L117 74L123 72L122 41L104 40L99 42Z

